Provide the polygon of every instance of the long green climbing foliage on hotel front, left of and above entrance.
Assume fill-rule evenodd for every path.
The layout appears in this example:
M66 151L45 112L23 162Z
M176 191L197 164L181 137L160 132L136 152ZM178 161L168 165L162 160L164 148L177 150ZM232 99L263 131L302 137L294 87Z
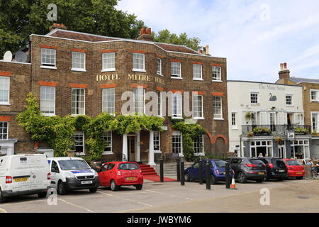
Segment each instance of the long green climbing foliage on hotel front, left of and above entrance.
M89 116L43 116L39 104L32 93L27 96L26 111L16 117L20 126L31 139L47 141L55 150L56 156L66 156L67 150L74 147L73 135L76 130L84 131L85 145L89 149L91 160L99 160L106 146L102 135L106 131L116 131L118 134L128 134L140 130L162 131L164 118L157 116L112 116L102 113L96 118ZM89 160L88 159L88 160Z

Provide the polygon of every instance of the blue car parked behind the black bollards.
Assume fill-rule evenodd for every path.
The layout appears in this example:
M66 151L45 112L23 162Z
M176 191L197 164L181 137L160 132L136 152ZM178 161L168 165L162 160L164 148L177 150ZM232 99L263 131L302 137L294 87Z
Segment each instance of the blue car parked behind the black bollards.
M227 162L220 159L203 160L203 179L206 179L205 164L210 162L211 164L211 184L216 182L225 182L225 165ZM233 177L233 170L230 169L230 176ZM191 167L185 170L185 181L197 181L199 180L199 161L195 162Z

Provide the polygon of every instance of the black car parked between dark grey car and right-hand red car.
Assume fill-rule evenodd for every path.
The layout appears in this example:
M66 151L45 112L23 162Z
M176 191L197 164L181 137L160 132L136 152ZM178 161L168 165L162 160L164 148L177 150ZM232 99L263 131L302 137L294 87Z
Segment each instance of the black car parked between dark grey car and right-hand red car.
M257 157L266 164L267 177L266 179L283 180L288 177L288 169L285 162L280 157Z

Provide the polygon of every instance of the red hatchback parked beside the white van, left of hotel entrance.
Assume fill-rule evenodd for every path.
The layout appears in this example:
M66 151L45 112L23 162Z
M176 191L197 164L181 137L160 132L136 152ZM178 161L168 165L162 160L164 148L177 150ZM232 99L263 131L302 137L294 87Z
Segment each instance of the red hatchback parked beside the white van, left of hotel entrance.
M121 186L133 185L140 190L143 187L143 175L136 162L107 162L99 172L100 185L111 187L112 191Z

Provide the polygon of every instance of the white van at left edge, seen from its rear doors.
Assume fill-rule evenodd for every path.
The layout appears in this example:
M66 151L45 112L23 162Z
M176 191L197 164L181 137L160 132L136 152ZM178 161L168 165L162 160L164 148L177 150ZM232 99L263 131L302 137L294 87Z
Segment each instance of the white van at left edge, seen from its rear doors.
M42 154L0 157L0 203L8 196L38 194L45 198L50 189L50 170Z

